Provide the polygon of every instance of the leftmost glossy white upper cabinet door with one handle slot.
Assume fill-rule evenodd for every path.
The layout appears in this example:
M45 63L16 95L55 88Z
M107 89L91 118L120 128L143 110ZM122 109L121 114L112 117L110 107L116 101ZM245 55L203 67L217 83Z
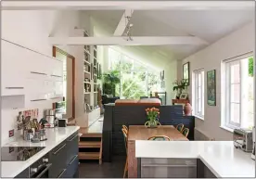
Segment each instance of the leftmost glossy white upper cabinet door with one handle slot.
M1 48L1 96L25 95L27 50L4 40Z

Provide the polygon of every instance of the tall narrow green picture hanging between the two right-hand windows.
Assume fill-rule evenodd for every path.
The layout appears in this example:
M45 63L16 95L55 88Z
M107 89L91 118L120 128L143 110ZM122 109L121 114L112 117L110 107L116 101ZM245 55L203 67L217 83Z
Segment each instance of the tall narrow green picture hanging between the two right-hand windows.
M216 106L216 70L207 71L207 103Z

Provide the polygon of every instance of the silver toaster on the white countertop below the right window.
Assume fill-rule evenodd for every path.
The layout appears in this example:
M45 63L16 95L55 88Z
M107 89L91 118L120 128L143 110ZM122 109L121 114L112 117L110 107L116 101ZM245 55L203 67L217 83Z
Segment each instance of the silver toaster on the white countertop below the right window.
M233 134L234 146L245 152L252 151L252 130L250 129L235 129Z

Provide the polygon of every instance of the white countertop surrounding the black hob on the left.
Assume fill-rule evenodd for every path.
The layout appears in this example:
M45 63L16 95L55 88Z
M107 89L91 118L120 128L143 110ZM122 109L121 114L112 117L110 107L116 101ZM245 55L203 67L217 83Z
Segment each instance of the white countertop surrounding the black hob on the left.
M4 147L45 147L40 152L32 156L32 158L25 161L2 161L1 162L1 176L13 178L33 162L42 158L54 147L57 147L62 141L68 138L79 130L79 126L58 127L53 129L45 129L47 140L40 143L32 143L24 141L20 138L17 141L7 143Z

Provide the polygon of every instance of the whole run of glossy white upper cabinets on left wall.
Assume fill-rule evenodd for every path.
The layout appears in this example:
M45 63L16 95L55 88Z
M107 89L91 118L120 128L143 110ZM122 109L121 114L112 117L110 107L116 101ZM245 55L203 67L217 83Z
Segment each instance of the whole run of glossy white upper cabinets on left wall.
M63 63L2 40L2 96L25 95L26 106L63 96Z

